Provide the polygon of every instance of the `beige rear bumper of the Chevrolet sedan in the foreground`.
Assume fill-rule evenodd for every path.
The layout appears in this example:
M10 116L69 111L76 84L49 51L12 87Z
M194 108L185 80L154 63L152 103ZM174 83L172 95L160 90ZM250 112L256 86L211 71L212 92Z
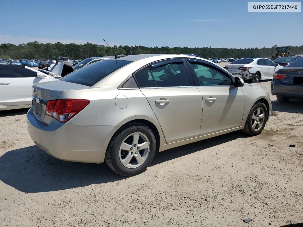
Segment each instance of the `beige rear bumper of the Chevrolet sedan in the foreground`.
M55 158L85 163L103 163L115 126L76 126L70 121L40 123L30 109L26 115L28 133L34 143Z

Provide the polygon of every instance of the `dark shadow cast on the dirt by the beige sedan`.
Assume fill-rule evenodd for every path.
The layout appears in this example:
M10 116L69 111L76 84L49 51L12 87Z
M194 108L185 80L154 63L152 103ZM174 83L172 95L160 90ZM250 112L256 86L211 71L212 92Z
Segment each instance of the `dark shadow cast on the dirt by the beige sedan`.
M199 150L245 137L240 132L228 133L157 153L151 166ZM150 168L150 167L149 167ZM75 163L55 159L37 146L6 152L0 157L0 180L27 192L48 192L102 184L124 179L104 164Z

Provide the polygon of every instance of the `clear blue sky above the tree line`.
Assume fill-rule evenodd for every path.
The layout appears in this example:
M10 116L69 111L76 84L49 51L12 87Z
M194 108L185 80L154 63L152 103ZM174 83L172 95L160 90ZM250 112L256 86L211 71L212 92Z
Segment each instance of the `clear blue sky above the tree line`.
M0 8L0 43L104 44L104 38L110 45L148 47L303 45L303 12L248 13L243 0L18 0L1 1Z

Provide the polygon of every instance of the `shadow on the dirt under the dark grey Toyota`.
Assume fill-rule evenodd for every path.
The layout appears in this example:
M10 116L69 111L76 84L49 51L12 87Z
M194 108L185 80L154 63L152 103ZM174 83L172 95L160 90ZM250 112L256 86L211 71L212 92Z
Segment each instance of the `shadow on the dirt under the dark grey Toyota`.
M280 103L278 100L271 101L272 110L285 113L303 113L303 100L291 99L287 103Z

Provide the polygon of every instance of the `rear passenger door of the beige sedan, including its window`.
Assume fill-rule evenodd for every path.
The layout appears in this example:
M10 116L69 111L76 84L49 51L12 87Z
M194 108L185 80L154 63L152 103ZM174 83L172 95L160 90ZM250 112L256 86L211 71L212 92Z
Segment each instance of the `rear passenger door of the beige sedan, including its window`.
M184 59L150 64L134 76L160 123L167 143L200 135L202 95Z

